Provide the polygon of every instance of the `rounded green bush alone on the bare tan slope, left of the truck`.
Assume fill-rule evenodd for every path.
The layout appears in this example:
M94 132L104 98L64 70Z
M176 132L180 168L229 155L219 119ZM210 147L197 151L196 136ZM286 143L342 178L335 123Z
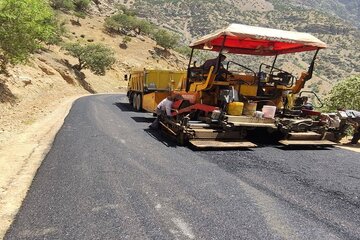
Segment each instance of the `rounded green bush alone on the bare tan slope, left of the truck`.
M64 49L78 59L79 63L74 68L79 71L88 68L97 75L105 75L106 69L115 63L114 52L103 44L68 43Z

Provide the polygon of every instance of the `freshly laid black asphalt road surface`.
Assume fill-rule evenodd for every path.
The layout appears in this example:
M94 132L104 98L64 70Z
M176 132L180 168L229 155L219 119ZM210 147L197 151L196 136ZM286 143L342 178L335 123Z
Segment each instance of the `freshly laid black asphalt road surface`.
M124 95L76 101L5 239L360 239L360 154L194 151Z

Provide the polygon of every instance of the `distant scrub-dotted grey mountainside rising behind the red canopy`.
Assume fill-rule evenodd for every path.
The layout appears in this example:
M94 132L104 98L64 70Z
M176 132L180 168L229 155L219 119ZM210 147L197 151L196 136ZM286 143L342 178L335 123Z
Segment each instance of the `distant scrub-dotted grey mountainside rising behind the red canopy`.
M179 34L184 45L229 23L310 32L329 45L320 53L316 74L325 91L334 82L360 73L357 0L102 0L136 10L138 16ZM100 4L100 5L101 5ZM100 6L98 5L98 6ZM106 12L105 8L103 13ZM248 58L245 58L248 61ZM309 57L287 62L306 67ZM316 88L319 88L317 86ZM320 87L321 88L321 87Z

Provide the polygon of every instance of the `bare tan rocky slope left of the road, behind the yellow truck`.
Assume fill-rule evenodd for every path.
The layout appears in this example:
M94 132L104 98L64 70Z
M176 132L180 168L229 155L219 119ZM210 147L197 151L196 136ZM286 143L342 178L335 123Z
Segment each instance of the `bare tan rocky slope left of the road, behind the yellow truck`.
M125 92L123 76L130 69L183 69L185 58L173 51L164 51L144 36L131 37L124 48L124 36L104 31L104 17L80 19L61 14L67 30L64 42L103 43L115 52L116 63L105 76L84 70L86 78L77 77L71 65L77 59L65 55L60 46L48 46L32 55L27 64L9 66L9 75L0 74L0 145L12 134L20 133L37 119L49 114L65 99L89 93Z

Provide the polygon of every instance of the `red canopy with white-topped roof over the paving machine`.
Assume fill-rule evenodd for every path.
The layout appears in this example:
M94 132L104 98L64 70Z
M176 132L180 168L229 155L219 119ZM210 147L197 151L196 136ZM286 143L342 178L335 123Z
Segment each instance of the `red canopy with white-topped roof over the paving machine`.
M225 39L225 42L224 42ZM229 53L273 56L285 53L326 48L326 43L309 33L231 24L225 29L203 36L190 44L191 48Z

